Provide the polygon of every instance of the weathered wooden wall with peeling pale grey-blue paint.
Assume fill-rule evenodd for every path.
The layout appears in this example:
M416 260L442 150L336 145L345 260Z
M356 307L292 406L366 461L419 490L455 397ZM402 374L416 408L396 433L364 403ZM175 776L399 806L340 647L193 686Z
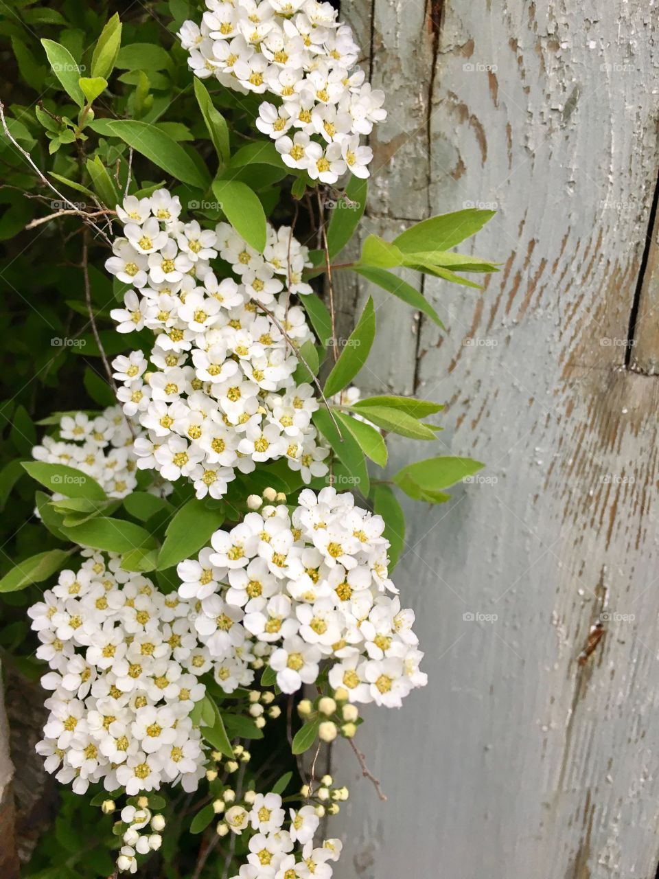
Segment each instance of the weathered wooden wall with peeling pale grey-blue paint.
M388 803L336 749L352 781L337 876L651 879L657 4L350 0L342 15L387 91L366 229L494 202L474 252L503 271L483 294L426 281L447 334L375 293L361 385L445 401L434 454L487 461L489 481L407 505L397 581L430 683L360 732ZM366 294L351 284L346 313ZM394 444L393 467L421 454Z

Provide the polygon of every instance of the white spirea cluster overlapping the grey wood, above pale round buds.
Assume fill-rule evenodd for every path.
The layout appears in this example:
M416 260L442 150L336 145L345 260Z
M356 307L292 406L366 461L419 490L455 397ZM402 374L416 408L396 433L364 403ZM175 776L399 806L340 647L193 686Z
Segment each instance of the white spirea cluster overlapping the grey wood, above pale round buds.
M329 684L351 702L400 707L426 676L388 578L384 521L331 487L249 512L216 531L199 558L178 565L178 594L200 601L194 626L227 693L250 682L252 654L267 659L284 693Z

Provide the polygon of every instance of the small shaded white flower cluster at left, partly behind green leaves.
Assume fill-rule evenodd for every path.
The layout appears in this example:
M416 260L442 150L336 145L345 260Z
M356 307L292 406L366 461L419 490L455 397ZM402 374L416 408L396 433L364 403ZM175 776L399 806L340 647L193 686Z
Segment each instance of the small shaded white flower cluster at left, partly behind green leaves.
M48 464L65 464L95 479L109 498L125 498L137 486L133 435L119 406L110 406L102 415L84 412L64 415L59 423L59 439L45 436L33 447L33 458ZM53 484L54 498L62 498Z

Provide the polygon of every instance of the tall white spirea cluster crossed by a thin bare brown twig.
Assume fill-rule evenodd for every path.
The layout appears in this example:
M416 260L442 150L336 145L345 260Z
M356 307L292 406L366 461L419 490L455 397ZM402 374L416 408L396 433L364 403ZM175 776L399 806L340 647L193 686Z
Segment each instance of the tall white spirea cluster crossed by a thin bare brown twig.
M221 498L236 469L281 457L307 483L324 476L329 448L311 424L318 402L293 378L293 345L313 339L288 301L312 293L301 280L308 249L291 229L269 226L261 255L227 223L180 220L179 200L163 189L117 209L125 237L105 265L134 289L112 317L119 332L156 334L150 363L140 351L112 362L124 412L146 432L134 443L138 468L188 477L198 498ZM218 280L218 253L238 281Z

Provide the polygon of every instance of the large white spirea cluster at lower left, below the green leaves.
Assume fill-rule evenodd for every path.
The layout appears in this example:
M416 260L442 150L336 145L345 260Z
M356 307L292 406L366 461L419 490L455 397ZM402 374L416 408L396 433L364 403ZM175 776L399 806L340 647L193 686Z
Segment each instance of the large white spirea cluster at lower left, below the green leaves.
M211 667L191 621L192 608L148 578L99 553L30 607L50 666L52 692L37 751L58 781L83 794L93 781L128 795L180 781L195 790L204 775L199 729L189 715Z

